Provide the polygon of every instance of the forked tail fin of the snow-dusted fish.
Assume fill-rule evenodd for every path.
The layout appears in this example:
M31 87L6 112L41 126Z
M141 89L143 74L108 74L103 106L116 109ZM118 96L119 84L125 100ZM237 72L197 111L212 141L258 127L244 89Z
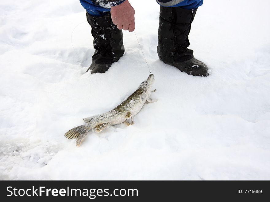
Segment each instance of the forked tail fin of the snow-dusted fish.
M84 137L90 130L91 128L88 125L80 125L67 131L67 133L65 133L65 137L68 139L77 138L76 145L80 146Z

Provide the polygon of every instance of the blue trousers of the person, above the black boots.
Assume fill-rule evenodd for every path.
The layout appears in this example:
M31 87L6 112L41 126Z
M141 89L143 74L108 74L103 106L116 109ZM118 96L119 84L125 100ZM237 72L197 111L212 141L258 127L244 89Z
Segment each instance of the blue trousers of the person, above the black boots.
M101 17L105 15L108 11L110 11L110 8L106 8L107 6L104 5L104 7L100 6L99 3L95 2L94 0L80 0L83 8L86 9L87 13L89 13L92 16ZM95 2L95 3L94 3ZM106 0L104 0L106 2ZM156 0L161 6L166 7L181 7L183 9L196 9L199 6L203 5L203 0ZM172 2L174 5L172 5ZM143 6L143 5L142 5Z

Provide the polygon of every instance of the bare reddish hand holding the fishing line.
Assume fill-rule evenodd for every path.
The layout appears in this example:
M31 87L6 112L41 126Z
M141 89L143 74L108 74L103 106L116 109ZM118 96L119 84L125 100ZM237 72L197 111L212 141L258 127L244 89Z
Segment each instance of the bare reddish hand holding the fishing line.
M128 0L118 6L111 7L111 16L113 23L117 25L119 30L135 30L135 10L130 5Z

